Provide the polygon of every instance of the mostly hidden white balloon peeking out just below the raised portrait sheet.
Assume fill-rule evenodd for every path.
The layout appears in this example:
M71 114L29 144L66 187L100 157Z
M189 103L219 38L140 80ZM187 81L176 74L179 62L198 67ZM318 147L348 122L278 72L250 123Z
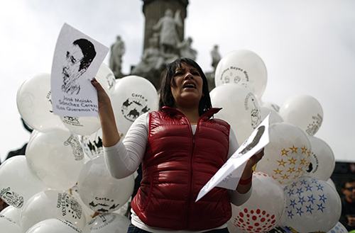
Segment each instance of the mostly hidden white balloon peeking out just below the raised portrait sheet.
M63 125L76 135L91 135L101 128L97 117L69 117L60 116Z

